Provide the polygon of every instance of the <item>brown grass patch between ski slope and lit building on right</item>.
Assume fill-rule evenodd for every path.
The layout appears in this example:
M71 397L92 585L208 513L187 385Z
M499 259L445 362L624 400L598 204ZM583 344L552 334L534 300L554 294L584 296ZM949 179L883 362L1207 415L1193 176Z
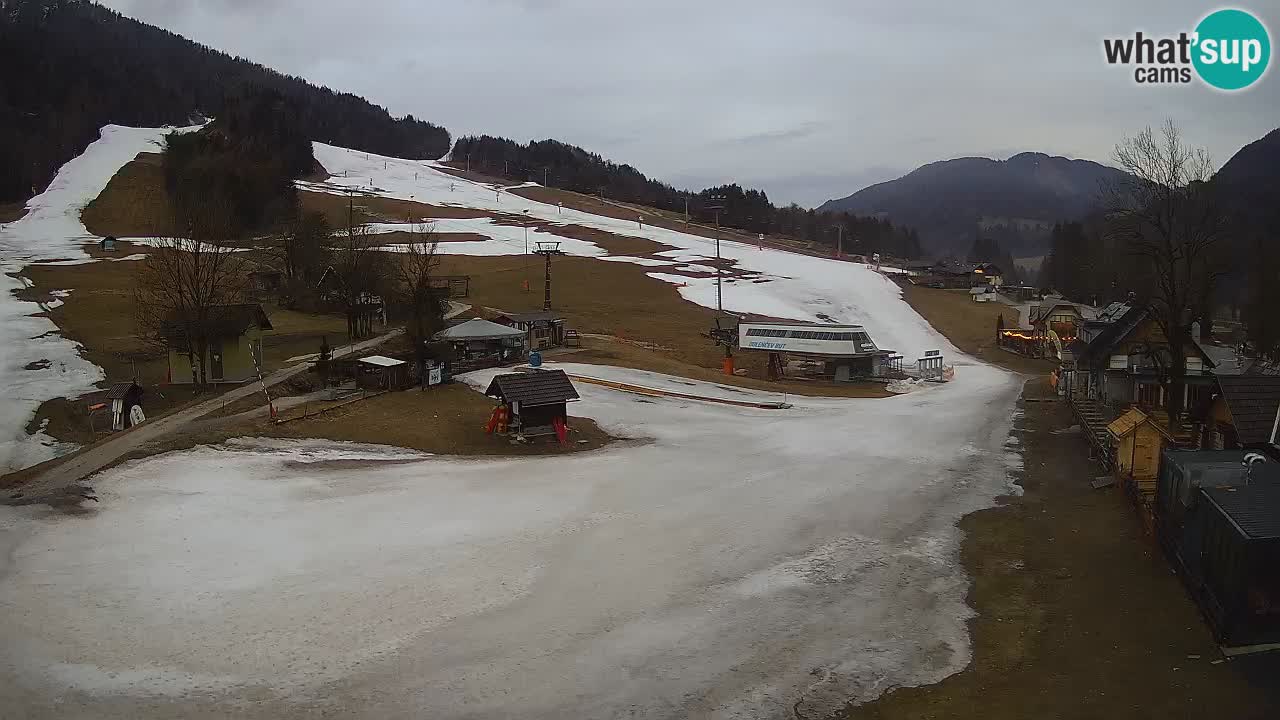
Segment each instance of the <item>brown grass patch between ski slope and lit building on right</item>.
M1048 374L1056 364L1024 357L996 345L996 319L1018 324L1018 310L1000 302L974 302L966 290L937 290L906 284L902 299L956 347L992 365L1015 373Z

